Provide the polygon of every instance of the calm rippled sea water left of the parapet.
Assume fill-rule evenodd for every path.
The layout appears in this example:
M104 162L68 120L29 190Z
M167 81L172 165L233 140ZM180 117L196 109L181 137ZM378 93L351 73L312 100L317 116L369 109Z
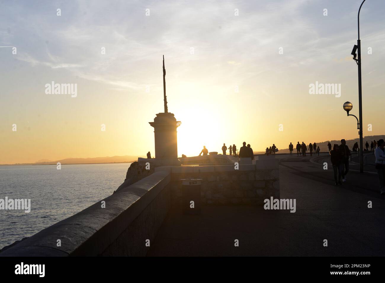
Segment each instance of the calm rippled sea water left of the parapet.
M0 166L0 199L31 199L31 211L0 210L0 249L112 195L131 163Z

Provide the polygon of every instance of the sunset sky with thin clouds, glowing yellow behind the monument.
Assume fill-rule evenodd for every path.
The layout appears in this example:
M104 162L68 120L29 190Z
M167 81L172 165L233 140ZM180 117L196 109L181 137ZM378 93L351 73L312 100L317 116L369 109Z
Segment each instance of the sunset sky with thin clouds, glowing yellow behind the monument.
M162 55L178 156L357 138L342 105L358 116L360 3L0 0L0 46L16 47L0 47L0 164L154 156ZM385 134L384 12L368 0L360 14L364 136ZM316 82L340 94L310 93Z

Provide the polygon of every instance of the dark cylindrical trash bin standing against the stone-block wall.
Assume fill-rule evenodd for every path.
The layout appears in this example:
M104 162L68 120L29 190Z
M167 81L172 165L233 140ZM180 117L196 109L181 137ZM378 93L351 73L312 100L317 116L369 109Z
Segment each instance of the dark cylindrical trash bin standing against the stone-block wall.
M183 214L201 214L201 181L202 179L181 179Z

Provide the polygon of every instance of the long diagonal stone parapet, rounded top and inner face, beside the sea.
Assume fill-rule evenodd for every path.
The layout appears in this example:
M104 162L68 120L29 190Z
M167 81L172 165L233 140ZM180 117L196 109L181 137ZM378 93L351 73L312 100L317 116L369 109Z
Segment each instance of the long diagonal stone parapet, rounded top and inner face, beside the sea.
M159 171L122 188L0 256L144 256L170 207L170 175Z

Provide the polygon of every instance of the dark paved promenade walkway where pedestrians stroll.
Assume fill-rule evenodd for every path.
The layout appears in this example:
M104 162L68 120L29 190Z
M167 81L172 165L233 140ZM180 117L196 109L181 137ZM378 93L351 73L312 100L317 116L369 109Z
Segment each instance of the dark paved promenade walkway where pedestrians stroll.
M281 165L281 198L296 199L295 213L203 206L201 215L189 216L174 207L147 256L385 255L385 202L377 175L352 171L343 186L335 186L333 169L323 170L310 156L276 158ZM368 201L373 208L367 207Z

